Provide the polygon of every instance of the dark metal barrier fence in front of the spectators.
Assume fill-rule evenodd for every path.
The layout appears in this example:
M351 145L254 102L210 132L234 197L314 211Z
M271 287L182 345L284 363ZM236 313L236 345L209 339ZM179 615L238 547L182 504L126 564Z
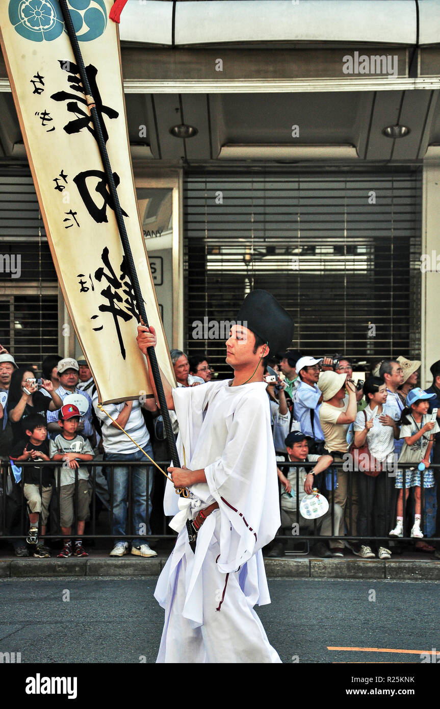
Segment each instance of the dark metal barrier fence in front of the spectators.
M169 466L169 462L159 462L159 465L163 469L167 469ZM373 530L371 528L371 513L373 510L370 508L370 503L369 499L371 497L371 487L376 486L376 481L378 481L379 476L376 478L372 478L370 476L366 476L363 474L361 471L346 471L344 470L344 463L342 462L337 462L332 465L331 468L328 470L330 473L327 471L323 472L320 474L320 478L322 480L320 481L320 491L321 493L325 493L325 496L329 499L329 513L330 513L330 530L331 533L329 535L322 535L320 534L320 526L322 525L322 521L320 518L313 520L313 527L312 530L309 530L310 533L305 533L304 527L305 523L307 523L309 520L305 520L300 515L300 497L298 496L297 491L303 491L303 475L300 474L300 469L312 469L314 466L314 463L311 462L281 462L278 461L278 467L281 468L290 468L290 467L295 467L296 468L296 479L295 479L295 491L294 491L294 498L295 498L295 508L290 509L290 513L293 513L294 516L294 521L291 522L290 518L290 524L285 525L281 527L281 529L278 532L278 535L276 538L278 539L292 539L292 537L295 537L295 540L315 540L315 541L322 541L322 540L342 540L343 538L345 540L353 540L354 542L363 542L366 539L368 541L374 542L374 541L382 541L382 542L390 542L391 539L396 540L396 537L390 538L388 536L388 532L393 529L395 526L395 507L396 507L396 502L397 502L397 494L398 490L395 489L394 485L394 480L395 480L395 472L386 472L385 475L387 476L387 484L383 486L385 496L384 496L384 501L383 501L383 506L385 508L385 528L387 530L387 533L383 536L377 536L373 535ZM40 484L39 484L39 490L40 490L40 496L42 492L42 479L43 479L43 467L52 467L55 469L55 481L56 484L52 485L52 499L51 499L51 509L50 509L50 518L49 518L49 528L50 532L45 535L45 539L47 540L53 540L57 539L59 540L62 537L71 537L75 535L76 527L72 527L72 533L70 535L63 535L60 527L60 476L62 472L62 466L60 466L59 462L45 462L44 464L38 464L38 462L21 462L19 464L19 467L21 467L22 471L26 467L38 467L40 468ZM120 537L120 533L115 533L113 532L113 523L115 522L115 513L114 513L114 502L115 502L115 496L114 496L114 486L115 486L115 475L114 475L114 469L115 467L125 467L128 468L130 471L130 474L127 475L127 493L126 493L126 503L127 503L127 510L126 510L126 534L123 535L124 539L126 540L132 540L132 539L137 539L138 537L147 537L147 539L173 539L176 537L175 532L170 530L168 527L168 521L170 518L166 518L163 513L162 513L162 533L157 533L154 532L154 534L148 534L148 529L150 525L150 506L148 503L148 500L150 498L150 495L152 493L152 482L153 482L153 468L150 465L145 465L139 461L107 461L107 460L94 460L91 462L84 463L84 466L87 469L89 469L89 489L90 489L90 494L91 494L91 500L90 500L90 505L89 505L89 527L87 528L85 532L85 536L87 538L93 538L96 540L108 540L108 539L113 539L115 537ZM131 469L132 468L142 468L145 469L145 522L142 521L142 525L145 525L145 527L140 527L137 530L133 529L133 506L134 506L134 500L133 500L133 495L132 495L132 489L133 489L133 479L132 479L132 474L131 474ZM431 464L430 469L439 469L440 464ZM101 470L98 470L101 469ZM103 476L102 474L102 469L106 470L106 476ZM407 468L406 468L407 469ZM27 513L27 508L26 508L26 498L24 496L24 486L23 484L18 484L15 481L15 478L13 476L13 469L11 467L11 463L9 461L2 461L1 462L1 467L0 467L0 539L4 540L23 540L23 537L26 537L28 533L28 528L29 528L29 519L28 519L28 513ZM339 471L339 472L338 472ZM74 472L74 477L75 477L75 490L74 490L74 509L77 509L77 503L78 503L78 471L72 471ZM338 530L335 529L335 495L332 494L332 490L329 491L324 491L325 487L325 476L326 473L329 475L330 479L330 484L332 484L332 481L334 481L334 477L336 476L336 479L338 479L338 476L341 476L342 472L346 473L346 483L347 483L347 494L346 494L346 504L345 504L345 509L344 509L344 520L345 520L345 529L344 529L344 537L339 534ZM22 473L23 475L23 473ZM356 523L358 522L358 519L356 518L358 515L355 515L356 511L356 485L359 483L359 478L356 476L364 476L367 478L366 481L366 488L367 488L367 504L366 504L366 517L367 517L367 534L359 535L356 530ZM383 476L383 473L380 473L380 476ZM162 476L161 476L162 478ZM339 478L340 479L340 478ZM328 478L327 478L328 480ZM421 528L422 530L424 529L424 520L425 520L425 513L424 513L424 498L426 491L423 487L424 483L424 472L421 472ZM334 483L333 483L334 484ZM403 510L404 510L404 530L405 530L405 476L403 476ZM280 486L280 492L281 496L283 493L283 488ZM143 495L143 489L142 489L142 495ZM337 497L337 495L336 495ZM103 504L103 507L107 508L109 518L108 518L108 532L106 533L96 533L96 525L97 525L97 520L96 520L96 503L97 503L97 498L101 500L101 503ZM359 498L359 495L358 495ZM286 520L285 515L283 515L283 502L281 501L281 514L282 514L282 519ZM295 528L293 527L295 525ZM303 529L301 528L303 527ZM295 532L293 531L295 529ZM286 533L286 530L289 530ZM306 530L307 531L307 530ZM436 536L431 536L427 537L424 535L424 540L430 540L434 542L439 542L440 541L440 536L439 536L440 530L435 530ZM409 540L414 540L414 537L410 537L408 535L405 535L403 537L398 537L398 539L404 540L404 541L409 541Z

